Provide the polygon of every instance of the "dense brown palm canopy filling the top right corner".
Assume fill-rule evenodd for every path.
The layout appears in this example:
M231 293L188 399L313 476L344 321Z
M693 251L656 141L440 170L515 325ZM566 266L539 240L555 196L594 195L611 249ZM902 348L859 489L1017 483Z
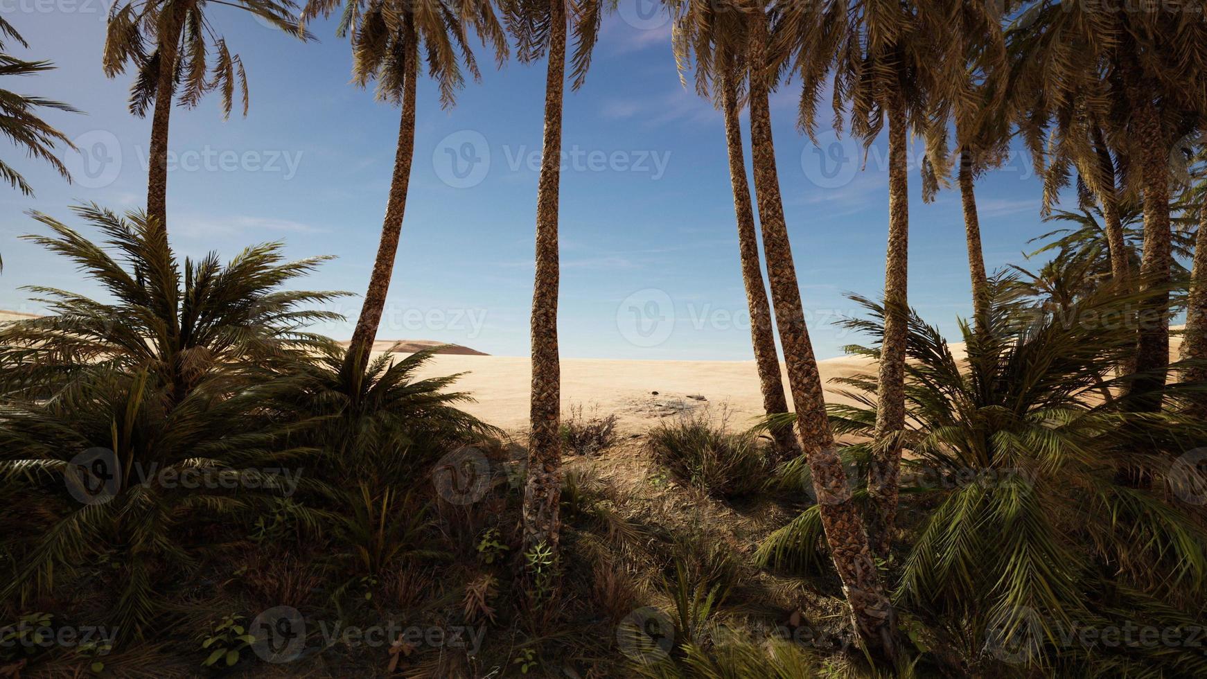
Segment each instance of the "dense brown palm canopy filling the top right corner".
M1118 12L1051 0L1018 5L1007 29L1010 89L1025 101L1015 122L1045 175L1046 194L1068 182L1071 163L1092 157L1095 125L1118 154L1120 188L1138 189L1138 172L1126 163L1142 157L1138 135L1129 129L1136 90L1161 103L1168 144L1201 127L1207 118L1205 12L1202 0ZM1094 169L1096 163L1084 165L1083 180L1101 194L1110 178Z

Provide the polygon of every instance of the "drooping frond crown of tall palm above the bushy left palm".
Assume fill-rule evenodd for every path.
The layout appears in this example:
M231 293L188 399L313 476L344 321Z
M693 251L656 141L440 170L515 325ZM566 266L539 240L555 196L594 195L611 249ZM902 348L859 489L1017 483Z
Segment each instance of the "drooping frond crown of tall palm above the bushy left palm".
M183 13L183 28L176 51L175 81L180 88L177 99L192 109L202 96L211 90L222 93L223 117L231 116L234 106L235 86L239 87L243 115L247 115L250 103L247 74L239 54L232 53L215 29L206 10L211 4L238 7L251 12L281 29L288 35L309 40L311 36L295 17L293 0L126 0L115 2L109 13L109 30L103 58L105 75L116 77L133 65L138 72L130 86L130 112L142 117L154 103L159 81L159 40L167 30L169 18ZM212 58L210 53L212 52Z

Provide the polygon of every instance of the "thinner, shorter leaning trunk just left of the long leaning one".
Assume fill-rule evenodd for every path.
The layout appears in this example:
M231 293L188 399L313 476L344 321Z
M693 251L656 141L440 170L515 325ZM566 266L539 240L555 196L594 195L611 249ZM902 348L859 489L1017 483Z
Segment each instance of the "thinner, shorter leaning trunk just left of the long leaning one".
M722 77L722 106L725 115L725 141L729 147L729 177L734 188L734 212L737 217L737 248L742 262L742 282L746 286L746 304L751 315L751 343L754 345L754 363L758 367L759 385L763 388L763 409L768 415L788 411L780 374L780 357L775 349L775 330L771 327L771 306L763 286L763 269L758 256L758 235L754 232L754 209L751 205L751 188L746 181L746 159L742 150L742 130L739 121L737 86L731 75ZM780 460L800 456L800 444L792 427L780 427L771 432Z

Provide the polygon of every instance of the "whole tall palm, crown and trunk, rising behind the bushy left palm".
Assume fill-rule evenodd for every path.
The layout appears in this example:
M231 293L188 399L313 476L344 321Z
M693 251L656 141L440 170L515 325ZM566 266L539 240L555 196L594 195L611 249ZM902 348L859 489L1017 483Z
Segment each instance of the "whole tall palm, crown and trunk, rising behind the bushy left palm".
M222 93L223 117L231 116L234 89L239 86L243 115L247 115L247 75L239 54L214 30L206 10L210 4L238 7L272 23L295 37L307 40L292 16L292 0L122 0L109 12L103 64L116 77L133 64L138 71L130 86L130 112L138 117L154 106L147 159L147 216L159 228L168 224L168 124L176 87L180 105L197 106L211 90ZM152 49L147 51L148 45ZM209 53L214 52L210 64ZM209 77L206 74L209 72Z

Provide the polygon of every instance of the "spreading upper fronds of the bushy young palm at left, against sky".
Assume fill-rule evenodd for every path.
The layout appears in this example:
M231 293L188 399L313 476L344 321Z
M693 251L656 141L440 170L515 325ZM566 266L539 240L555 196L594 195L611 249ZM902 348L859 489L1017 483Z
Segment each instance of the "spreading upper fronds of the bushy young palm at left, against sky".
M146 215L122 218L97 205L75 211L109 247L41 213L35 218L54 235L27 239L88 271L112 302L27 287L52 314L0 328L6 394L45 398L98 365L147 370L176 402L203 380L237 390L252 375L286 371L326 347L330 340L305 327L342 318L301 308L343 293L280 289L326 257L288 262L281 244L269 242L245 248L226 265L210 253L181 267L167 233Z

